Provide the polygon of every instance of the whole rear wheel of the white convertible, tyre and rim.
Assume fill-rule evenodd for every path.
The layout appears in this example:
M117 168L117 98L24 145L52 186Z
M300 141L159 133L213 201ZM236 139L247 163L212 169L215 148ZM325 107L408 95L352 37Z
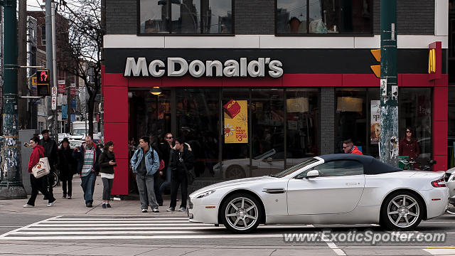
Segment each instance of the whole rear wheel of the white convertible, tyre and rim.
M409 191L397 191L385 198L381 208L381 225L391 230L417 227L423 216L422 200Z

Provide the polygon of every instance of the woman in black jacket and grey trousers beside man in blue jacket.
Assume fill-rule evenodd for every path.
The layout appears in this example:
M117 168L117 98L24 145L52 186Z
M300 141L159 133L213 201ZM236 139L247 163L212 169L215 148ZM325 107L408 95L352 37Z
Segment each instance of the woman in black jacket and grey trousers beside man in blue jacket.
M114 181L114 166L117 166L114 156L114 142L108 141L100 156L100 174L102 180L102 208L111 208L109 203Z

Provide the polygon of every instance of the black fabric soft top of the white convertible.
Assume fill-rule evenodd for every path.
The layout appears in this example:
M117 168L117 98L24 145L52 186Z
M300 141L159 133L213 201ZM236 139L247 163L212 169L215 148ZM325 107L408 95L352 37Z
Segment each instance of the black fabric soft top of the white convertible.
M363 164L364 174L387 174L402 169L382 163L373 156L363 156L358 154L328 154L319 156L324 162L336 160L355 160Z

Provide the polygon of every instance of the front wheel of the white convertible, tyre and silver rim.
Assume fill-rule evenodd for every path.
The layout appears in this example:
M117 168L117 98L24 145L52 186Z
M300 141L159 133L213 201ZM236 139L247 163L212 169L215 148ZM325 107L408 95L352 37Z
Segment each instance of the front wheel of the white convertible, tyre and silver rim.
M261 214L261 204L254 196L245 193L229 196L221 208L223 224L235 233L250 233L255 230Z

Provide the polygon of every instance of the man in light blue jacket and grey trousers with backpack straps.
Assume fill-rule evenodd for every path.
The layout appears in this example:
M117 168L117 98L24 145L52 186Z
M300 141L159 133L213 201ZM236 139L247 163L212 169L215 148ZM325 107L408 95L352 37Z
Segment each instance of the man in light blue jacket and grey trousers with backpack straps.
M134 152L131 166L133 172L136 173L141 210L142 213L146 213L150 206L154 213L159 213L154 191L154 174L159 169L159 156L151 148L149 137L141 137L139 146L141 148Z

